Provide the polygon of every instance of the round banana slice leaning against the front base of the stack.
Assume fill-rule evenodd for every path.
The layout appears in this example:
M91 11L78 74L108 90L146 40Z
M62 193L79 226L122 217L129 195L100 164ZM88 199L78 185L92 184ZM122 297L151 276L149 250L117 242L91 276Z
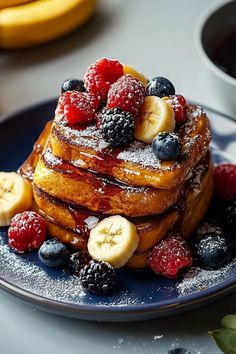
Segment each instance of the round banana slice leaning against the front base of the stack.
M88 250L93 259L122 267L139 242L136 227L120 215L103 219L90 232Z

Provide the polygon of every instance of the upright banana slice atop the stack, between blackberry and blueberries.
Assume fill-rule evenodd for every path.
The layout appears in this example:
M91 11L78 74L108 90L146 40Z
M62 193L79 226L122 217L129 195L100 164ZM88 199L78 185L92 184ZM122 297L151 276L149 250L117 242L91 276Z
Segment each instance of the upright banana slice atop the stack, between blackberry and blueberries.
M135 138L151 144L158 133L172 132L175 114L171 105L157 96L146 96L135 118Z

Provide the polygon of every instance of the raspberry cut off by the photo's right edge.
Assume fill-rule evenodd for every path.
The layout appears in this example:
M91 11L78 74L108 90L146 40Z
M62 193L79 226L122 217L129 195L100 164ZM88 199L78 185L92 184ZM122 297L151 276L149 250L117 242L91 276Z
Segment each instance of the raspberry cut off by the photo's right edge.
M214 171L214 193L222 201L236 198L236 165L223 163Z

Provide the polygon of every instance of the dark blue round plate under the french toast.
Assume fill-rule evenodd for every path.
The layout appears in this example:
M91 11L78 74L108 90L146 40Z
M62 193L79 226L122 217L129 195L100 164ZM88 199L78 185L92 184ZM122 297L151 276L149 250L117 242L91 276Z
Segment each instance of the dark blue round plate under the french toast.
M0 170L13 171L25 160L45 122L53 117L51 100L4 117L0 123ZM213 127L215 162L233 161L236 124L207 109ZM37 252L14 254L7 229L0 228L0 287L36 308L96 321L133 321L193 309L236 289L236 259L218 271L193 268L178 280L149 271L118 271L117 291L109 296L85 294L67 269L44 267Z

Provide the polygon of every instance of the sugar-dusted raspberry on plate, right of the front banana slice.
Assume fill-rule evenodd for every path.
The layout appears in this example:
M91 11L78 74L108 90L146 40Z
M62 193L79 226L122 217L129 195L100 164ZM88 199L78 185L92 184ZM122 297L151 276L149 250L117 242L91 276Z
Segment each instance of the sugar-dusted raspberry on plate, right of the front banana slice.
M192 265L192 252L179 235L171 235L155 246L148 264L151 269L168 278L176 278L179 271Z

